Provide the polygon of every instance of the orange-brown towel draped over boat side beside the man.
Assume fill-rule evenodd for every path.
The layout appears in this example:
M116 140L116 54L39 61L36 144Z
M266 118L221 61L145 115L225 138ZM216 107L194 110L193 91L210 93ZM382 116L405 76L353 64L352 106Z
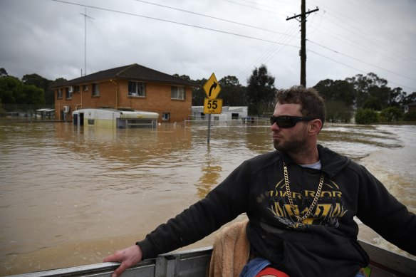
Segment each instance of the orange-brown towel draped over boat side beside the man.
M209 277L239 277L249 261L250 243L246 236L249 219L224 227L214 239Z

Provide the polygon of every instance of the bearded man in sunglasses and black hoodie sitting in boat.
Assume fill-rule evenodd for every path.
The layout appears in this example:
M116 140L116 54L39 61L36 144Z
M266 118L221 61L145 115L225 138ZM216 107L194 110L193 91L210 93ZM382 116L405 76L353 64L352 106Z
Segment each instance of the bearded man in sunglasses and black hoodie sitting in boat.
M416 216L367 169L317 145L325 105L316 90L277 93L271 131L277 151L243 162L205 199L142 241L104 261L114 276L142 258L192 244L246 212L251 256L291 277L360 276L368 255L354 216L388 241L416 254ZM113 277L114 277L113 276Z

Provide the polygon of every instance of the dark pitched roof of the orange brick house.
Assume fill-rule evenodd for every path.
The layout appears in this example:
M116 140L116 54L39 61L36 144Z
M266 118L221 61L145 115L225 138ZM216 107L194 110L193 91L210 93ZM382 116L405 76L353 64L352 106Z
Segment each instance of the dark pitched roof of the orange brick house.
M62 83L56 83L52 88L60 88L69 85L80 85L84 83L98 82L100 80L110 79L128 79L128 80L140 80L155 83L169 83L172 85L185 85L195 87L196 83L175 76L162 73L145 66L140 66L137 63L133 63L130 66L120 66L118 68L111 68L108 70L98 71L83 77L68 80Z

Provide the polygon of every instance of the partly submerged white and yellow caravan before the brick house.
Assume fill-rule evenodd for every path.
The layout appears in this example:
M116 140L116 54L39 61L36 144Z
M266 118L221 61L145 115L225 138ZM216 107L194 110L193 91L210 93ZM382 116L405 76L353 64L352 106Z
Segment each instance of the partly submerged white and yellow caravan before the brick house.
M90 108L74 110L73 125L103 128L156 127L158 113L131 109Z

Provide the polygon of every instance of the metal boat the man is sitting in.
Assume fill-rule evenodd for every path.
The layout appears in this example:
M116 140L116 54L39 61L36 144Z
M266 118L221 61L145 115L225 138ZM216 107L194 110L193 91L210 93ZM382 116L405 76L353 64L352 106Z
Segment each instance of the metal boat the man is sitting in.
M416 260L381 249L373 244L359 241L370 256L365 268L366 277L415 277ZM175 251L147 259L129 268L122 277L204 277L212 254L212 247ZM94 276L110 277L118 263L97 263L88 266L53 269L15 275L12 277L63 277Z

